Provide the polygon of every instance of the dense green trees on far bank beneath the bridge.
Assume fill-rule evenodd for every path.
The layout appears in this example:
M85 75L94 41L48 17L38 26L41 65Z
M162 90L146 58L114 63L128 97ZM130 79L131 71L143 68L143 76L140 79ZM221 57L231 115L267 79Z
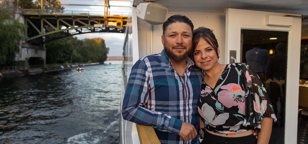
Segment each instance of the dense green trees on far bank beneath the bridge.
M47 64L65 62L104 62L109 48L103 38L78 40L67 37L46 43Z

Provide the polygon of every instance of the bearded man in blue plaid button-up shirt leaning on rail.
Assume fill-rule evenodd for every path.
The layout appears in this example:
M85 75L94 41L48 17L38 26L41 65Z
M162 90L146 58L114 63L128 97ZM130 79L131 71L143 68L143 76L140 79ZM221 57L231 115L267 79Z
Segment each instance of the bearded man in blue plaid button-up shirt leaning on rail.
M202 73L188 57L193 23L173 15L163 24L164 50L132 67L123 100L123 118L153 126L161 143L200 143L197 102Z

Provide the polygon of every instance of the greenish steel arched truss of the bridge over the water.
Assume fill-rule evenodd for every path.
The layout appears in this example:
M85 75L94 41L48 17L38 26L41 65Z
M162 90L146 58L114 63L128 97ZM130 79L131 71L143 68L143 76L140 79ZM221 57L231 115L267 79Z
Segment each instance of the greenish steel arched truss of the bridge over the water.
M24 9L27 36L33 44L42 44L76 34L94 32L124 33L127 15L88 11L43 11Z

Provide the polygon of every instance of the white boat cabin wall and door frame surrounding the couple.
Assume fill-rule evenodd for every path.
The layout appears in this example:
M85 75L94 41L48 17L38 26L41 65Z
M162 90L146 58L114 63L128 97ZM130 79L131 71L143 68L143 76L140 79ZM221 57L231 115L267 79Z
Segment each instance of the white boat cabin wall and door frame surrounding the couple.
M142 2L144 1L131 0L124 34L121 108L126 82L133 64L144 55L160 53L163 50L161 43L162 24L149 24L136 15L136 6ZM282 139L284 143L297 143L300 42L301 39L308 39L308 23L306 20L303 20L306 23L302 25L302 18L306 18L308 15L308 1L154 0L154 2L168 8L166 19L174 14L183 14L192 20L195 29L199 26L205 26L213 30L221 51L219 61L224 64L231 62L230 56L232 54L237 55L237 62L243 61L241 30L287 32L286 125L281 131L284 134ZM268 18L272 19L269 20ZM302 28L306 31L302 31ZM120 143L140 143L136 125L124 120L121 114Z

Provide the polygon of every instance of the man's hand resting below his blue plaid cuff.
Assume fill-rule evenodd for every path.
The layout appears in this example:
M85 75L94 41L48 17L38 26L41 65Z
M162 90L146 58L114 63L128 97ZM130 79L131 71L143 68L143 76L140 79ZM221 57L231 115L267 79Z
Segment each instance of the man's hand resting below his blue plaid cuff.
M197 136L197 130L192 124L182 122L182 127L179 134L185 141L189 141Z

